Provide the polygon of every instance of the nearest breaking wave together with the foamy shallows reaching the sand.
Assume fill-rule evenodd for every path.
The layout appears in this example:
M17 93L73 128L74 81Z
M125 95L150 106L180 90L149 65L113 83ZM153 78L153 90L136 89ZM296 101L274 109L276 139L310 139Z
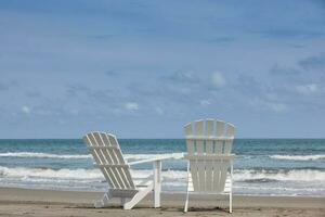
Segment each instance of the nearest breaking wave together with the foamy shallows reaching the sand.
M134 182L152 174L152 170L132 170ZM164 170L162 190L184 192L186 171ZM240 170L234 171L234 192L258 195L325 195L325 171L312 169L292 170ZM0 166L0 187L28 189L106 191L107 182L100 169L52 169ZM308 188L307 188L308 187Z

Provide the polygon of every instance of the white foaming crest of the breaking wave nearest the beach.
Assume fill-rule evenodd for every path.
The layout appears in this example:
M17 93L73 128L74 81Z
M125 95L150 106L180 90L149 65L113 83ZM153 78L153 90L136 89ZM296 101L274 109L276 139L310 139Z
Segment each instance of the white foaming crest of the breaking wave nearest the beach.
M150 169L131 170L135 179L147 177L152 173ZM16 180L52 179L58 180L80 180L80 181L103 181L104 177L99 169L52 169L52 168L28 168L28 167L3 167L0 166L0 180L13 178ZM186 171L165 170L162 171L164 181L185 182ZM291 170L253 170L236 169L234 181L240 182L269 182L269 181L324 181L325 171L313 169L291 169Z

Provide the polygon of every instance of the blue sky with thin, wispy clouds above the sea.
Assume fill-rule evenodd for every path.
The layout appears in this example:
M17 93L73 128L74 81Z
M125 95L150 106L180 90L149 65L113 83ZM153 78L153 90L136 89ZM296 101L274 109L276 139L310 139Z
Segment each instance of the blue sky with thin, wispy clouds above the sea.
M325 1L0 0L0 138L325 138Z

